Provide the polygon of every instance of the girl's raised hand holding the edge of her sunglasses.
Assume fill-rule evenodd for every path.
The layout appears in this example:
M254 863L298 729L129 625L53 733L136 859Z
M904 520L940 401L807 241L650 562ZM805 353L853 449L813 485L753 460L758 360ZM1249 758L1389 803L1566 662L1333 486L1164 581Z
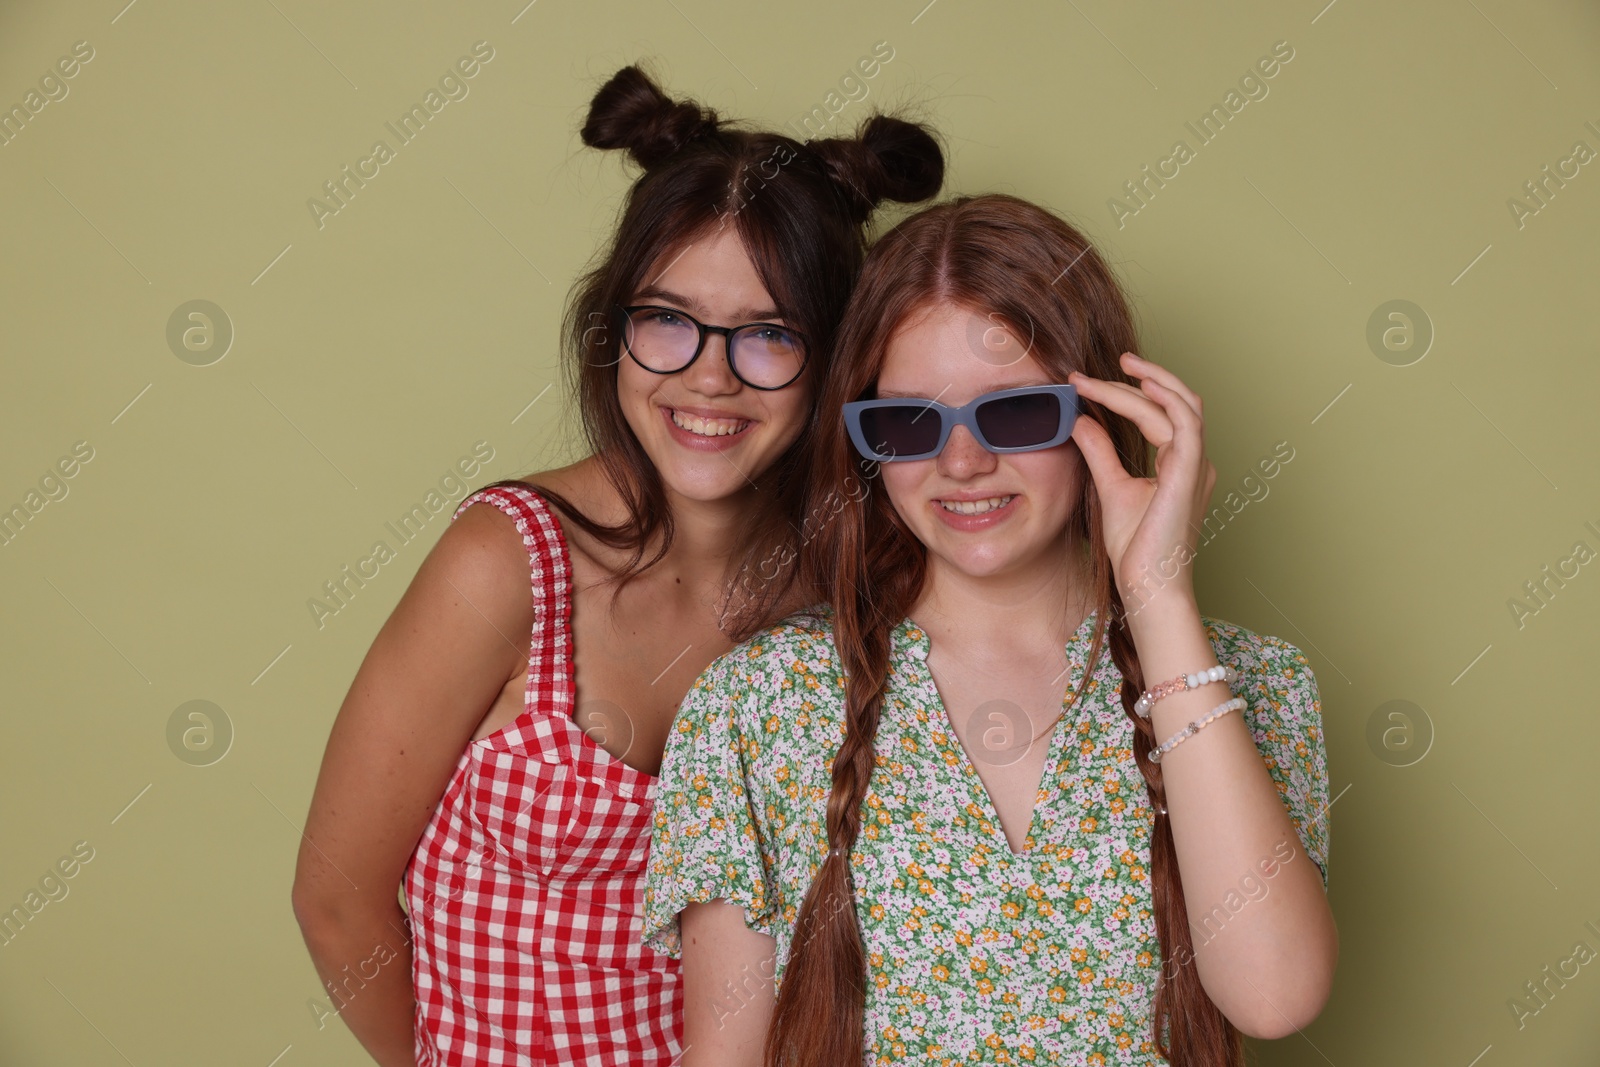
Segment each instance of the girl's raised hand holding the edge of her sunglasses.
M1181 593L1194 601L1187 563L1195 552L1195 530L1211 502L1216 467L1205 456L1200 397L1176 374L1133 352L1122 354L1122 366L1141 379L1139 387L1078 371L1067 382L1085 400L1131 419L1155 445L1155 478L1136 478L1123 469L1106 427L1086 414L1072 426L1072 440L1101 499L1117 587L1125 608L1136 613L1146 600L1144 590L1160 589L1163 597ZM1136 590L1133 597L1130 590Z

